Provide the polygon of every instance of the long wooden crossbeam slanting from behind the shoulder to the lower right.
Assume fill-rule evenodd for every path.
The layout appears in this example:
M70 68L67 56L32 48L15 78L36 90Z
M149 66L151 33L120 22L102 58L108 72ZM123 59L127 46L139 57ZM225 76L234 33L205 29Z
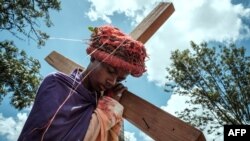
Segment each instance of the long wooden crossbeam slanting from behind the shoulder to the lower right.
M45 60L66 74L75 68L83 69L79 64L72 63L73 61L55 51L50 53ZM169 141L205 141L202 132L196 128L129 91L123 93L120 103L124 106L124 118L156 141L166 139Z

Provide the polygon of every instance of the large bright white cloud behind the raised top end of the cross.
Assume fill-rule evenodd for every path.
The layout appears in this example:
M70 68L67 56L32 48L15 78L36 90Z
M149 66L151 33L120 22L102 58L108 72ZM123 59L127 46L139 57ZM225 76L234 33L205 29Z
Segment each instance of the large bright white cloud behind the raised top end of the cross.
M127 0L121 3L89 0L91 8L86 13L90 19L102 19L108 23L109 16L124 13L132 23L140 22L162 0ZM163 85L170 65L171 51L186 49L191 40L226 41L250 37L250 29L241 18L249 17L250 9L232 5L230 0L172 0L175 12L146 44L150 60L147 61L148 79ZM244 34L243 34L244 33Z

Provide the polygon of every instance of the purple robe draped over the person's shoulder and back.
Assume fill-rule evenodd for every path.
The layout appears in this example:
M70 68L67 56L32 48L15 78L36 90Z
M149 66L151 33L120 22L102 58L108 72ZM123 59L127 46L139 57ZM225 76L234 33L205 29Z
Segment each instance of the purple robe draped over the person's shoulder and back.
M33 108L18 141L41 140L49 120L69 95L70 89L79 83L81 81L76 71L70 76L59 72L48 75L38 89ZM44 135L44 140L83 140L96 108L96 101L97 95L80 84L57 113Z

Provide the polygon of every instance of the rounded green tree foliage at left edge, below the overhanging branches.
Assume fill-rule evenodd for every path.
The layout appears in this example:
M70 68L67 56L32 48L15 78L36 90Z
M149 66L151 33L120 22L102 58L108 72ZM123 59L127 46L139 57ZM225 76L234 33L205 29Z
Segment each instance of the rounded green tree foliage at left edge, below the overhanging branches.
M39 69L39 61L27 57L13 42L0 42L0 102L9 94L15 108L29 106L41 81Z

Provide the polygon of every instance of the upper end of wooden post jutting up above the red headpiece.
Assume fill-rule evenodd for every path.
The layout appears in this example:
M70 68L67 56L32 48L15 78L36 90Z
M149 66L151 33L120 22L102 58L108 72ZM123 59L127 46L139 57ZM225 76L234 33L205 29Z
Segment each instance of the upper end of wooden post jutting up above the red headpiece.
M159 3L129 35L133 39L146 43L173 12L172 3Z

